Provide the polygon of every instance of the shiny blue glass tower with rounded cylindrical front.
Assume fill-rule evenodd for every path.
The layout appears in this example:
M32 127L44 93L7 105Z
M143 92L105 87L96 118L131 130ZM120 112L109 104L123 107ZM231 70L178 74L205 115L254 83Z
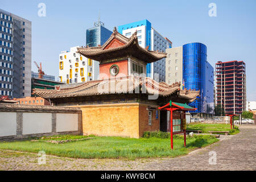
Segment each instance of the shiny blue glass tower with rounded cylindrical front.
M214 114L213 67L207 61L207 47L202 43L183 46L183 80L185 88L200 90L200 97L192 102L196 111L191 113Z

